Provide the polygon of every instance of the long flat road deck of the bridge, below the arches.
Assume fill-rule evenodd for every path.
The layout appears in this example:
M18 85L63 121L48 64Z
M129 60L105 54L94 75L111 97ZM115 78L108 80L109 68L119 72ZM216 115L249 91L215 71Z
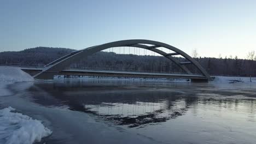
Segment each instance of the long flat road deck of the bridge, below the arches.
M42 70L36 69L22 69L30 75L36 75ZM62 70L56 72L46 72L48 79L53 79L54 75L63 76L107 76L107 77L142 77L142 78L166 78L166 79L190 79L192 82L207 82L208 79L202 75L189 74L165 74L165 73L139 73L130 71L96 71L96 70Z

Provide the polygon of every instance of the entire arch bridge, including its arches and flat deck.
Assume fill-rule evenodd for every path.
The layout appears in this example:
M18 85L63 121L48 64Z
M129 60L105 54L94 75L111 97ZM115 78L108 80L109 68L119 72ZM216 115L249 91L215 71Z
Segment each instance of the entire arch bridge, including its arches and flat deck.
M179 68L185 71L185 74L162 74L162 73L138 73L138 72L120 72L120 71L90 71L90 70L68 70L67 68L72 63L78 62L82 58L86 58L96 52L100 52L111 47L137 47L141 49L146 49L159 53L159 55L164 56L170 61L178 65ZM159 49L159 47L164 47L172 51L167 53ZM179 62L174 56L182 56L186 59L185 62ZM199 71L200 75L193 74L187 68L187 65L194 65ZM166 78L182 78L191 79L198 81L212 81L212 77L207 73L205 69L192 57L182 50L177 49L171 45L161 43L159 41L153 40L143 40L143 39L133 39L133 40L120 40L114 41L112 43L106 43L102 45L91 46L86 49L78 50L69 53L55 61L44 66L43 69L24 69L27 73L32 74L35 79L53 79L54 75L88 75L88 76L118 76L118 77L166 77Z

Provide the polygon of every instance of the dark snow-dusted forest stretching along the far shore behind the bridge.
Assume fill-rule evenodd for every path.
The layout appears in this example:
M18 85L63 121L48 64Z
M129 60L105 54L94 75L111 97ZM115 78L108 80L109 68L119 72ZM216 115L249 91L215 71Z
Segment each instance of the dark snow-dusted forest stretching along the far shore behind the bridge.
M58 47L36 47L19 52L0 52L0 64L28 64L45 65L57 58L74 51ZM185 62L183 57L176 57ZM254 58L195 58L211 75L225 76L256 76L256 61ZM114 52L97 52L92 56L81 59L70 68L76 69L107 69L107 70L135 70L161 73L184 73L176 64L163 56L118 54ZM193 66L188 65L192 73L199 73Z

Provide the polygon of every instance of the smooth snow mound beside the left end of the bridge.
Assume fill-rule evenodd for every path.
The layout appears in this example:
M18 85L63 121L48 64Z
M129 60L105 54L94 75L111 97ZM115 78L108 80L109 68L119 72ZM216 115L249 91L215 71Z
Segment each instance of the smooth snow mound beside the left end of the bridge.
M18 67L0 66L0 82L8 81L33 81L33 77L25 73Z

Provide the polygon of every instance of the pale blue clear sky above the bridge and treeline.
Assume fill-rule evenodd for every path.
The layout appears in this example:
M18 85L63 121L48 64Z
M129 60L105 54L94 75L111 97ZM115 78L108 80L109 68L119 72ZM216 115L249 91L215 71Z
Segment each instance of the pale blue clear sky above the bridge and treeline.
M161 41L200 56L256 50L256 1L0 1L0 51Z

